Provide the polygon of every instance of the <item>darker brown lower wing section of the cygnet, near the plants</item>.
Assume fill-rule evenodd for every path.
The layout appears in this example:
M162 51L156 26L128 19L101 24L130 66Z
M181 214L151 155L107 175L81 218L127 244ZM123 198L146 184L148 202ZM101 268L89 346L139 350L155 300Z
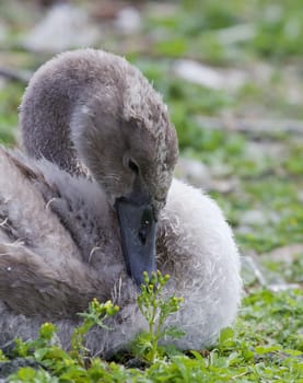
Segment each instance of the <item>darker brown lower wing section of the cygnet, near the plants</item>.
M54 253L54 258L60 257ZM0 301L15 314L44 320L75 318L93 298L110 298L109 283L78 259L47 264L22 244L0 243Z

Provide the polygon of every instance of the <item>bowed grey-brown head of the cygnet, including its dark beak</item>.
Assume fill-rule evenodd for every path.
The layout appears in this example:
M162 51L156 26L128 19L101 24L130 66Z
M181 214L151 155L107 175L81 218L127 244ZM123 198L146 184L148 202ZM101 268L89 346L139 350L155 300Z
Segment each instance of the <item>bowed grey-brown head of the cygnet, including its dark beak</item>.
M72 141L117 209L127 269L140 285L142 271L155 269L156 220L177 138L162 98L137 69L110 55L101 71L74 109Z

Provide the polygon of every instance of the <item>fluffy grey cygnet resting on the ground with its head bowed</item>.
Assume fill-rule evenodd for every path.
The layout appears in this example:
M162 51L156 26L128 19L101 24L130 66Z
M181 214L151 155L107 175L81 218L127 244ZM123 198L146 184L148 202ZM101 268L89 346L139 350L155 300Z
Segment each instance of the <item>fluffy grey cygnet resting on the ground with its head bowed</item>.
M215 202L172 178L175 130L142 74L102 50L59 55L31 80L21 126L26 155L0 151L0 347L53 321L69 348L97 298L120 311L86 346L127 348L147 327L142 270L156 268L185 299L167 320L186 333L175 345L213 344L240 304L237 248Z

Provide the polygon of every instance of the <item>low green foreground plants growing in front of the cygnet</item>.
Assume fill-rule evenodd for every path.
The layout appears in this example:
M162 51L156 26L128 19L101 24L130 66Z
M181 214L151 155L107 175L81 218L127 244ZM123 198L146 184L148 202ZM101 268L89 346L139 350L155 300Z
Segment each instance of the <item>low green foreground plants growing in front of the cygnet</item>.
M145 297L144 307L148 311L152 309L154 299L159 300L158 292L153 293L152 289L143 291L142 295ZM160 315L165 310L166 314L170 310L171 313L174 311L167 302L162 301L166 306L162 305L159 309ZM92 311L86 314L86 318L91 316ZM54 327L46 324L42 327L38 339L31 343L30 348L25 347L27 358L38 361L44 368L37 370L23 368L11 375L9 381L300 383L303 382L302 316L302 290L279 293L268 290L256 291L243 300L243 307L234 329L223 329L213 349L189 351L186 355L166 350L168 353L163 355L163 351L161 353L158 351L158 346L156 348L149 346L158 334L158 327L145 335L144 340L140 337L141 350L143 341L145 351L148 347L156 352L152 358L144 359L148 361L144 370L101 361L98 358L82 359L84 355L75 352L75 349L67 353L58 346L49 344ZM148 317L149 315L147 320ZM152 323L155 324L154 318ZM82 325L80 328L84 327ZM19 353L24 356L24 344L21 345L23 347L19 345ZM81 345L78 345L78 348L81 350ZM135 355L137 358L138 356L142 357L142 352Z

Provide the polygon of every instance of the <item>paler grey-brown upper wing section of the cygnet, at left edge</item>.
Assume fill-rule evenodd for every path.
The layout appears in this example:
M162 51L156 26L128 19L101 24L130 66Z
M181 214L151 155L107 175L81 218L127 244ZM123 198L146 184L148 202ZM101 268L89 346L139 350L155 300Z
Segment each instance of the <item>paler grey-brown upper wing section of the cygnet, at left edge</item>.
M53 262L54 253L62 254L59 264L81 259L70 234L49 209L40 193L43 188L53 194L37 169L0 148L0 232L9 243L32 246L46 263Z

